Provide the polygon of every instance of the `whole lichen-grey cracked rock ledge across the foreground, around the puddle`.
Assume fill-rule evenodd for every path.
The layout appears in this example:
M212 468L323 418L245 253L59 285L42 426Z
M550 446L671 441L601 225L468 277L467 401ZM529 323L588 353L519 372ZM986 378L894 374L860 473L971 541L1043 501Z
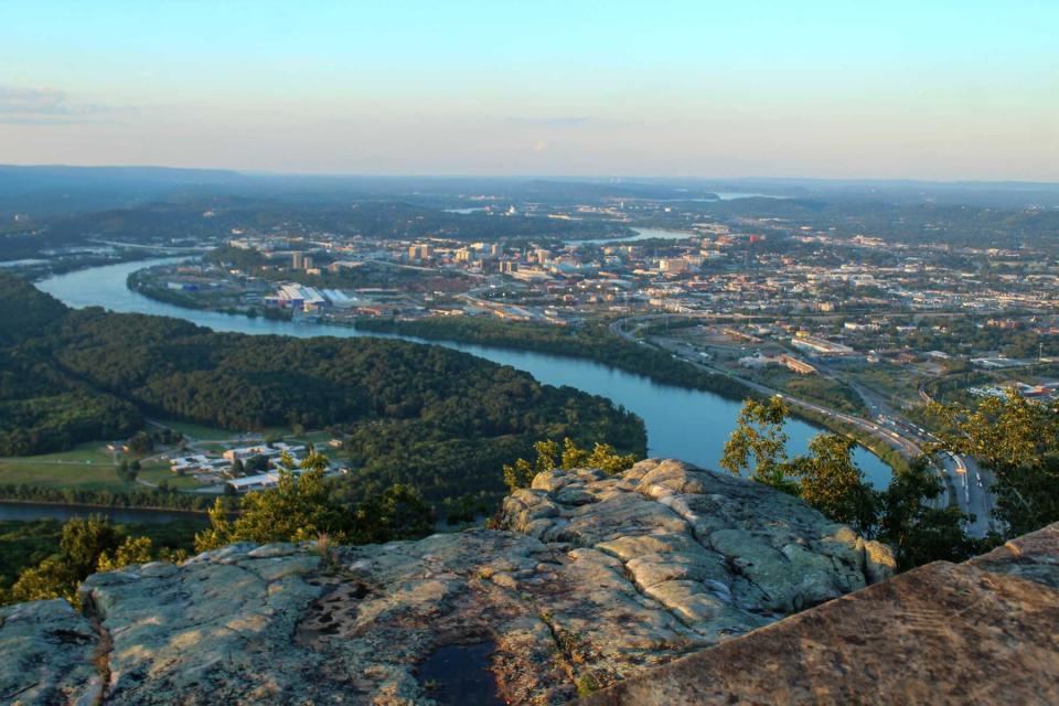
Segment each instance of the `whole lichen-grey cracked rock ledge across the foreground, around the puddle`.
M680 461L537 475L505 531L237 544L0 611L0 702L427 704L439 646L489 642L513 704L559 704L888 578L799 500ZM634 703L634 702L630 702ZM659 702L662 703L662 702Z

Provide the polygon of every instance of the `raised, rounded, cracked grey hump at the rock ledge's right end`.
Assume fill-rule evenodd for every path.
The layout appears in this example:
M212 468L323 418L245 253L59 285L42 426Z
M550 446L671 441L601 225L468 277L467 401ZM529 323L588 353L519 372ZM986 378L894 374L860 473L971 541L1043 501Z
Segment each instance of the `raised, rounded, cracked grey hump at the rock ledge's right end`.
M758 483L650 460L616 478L538 474L504 501L506 526L575 561L609 561L697 634L746 632L892 574L878 542Z

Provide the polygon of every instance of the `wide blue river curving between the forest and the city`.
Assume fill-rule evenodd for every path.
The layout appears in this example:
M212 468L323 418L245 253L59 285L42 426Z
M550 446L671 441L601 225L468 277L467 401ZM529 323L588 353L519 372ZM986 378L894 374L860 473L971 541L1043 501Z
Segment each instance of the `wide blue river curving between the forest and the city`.
M349 327L313 322L274 321L214 311L184 309L154 301L130 291L126 278L137 269L184 258L161 258L93 267L56 275L38 282L43 291L74 308L99 306L111 311L149 313L185 319L214 331L249 334L282 334L300 338L334 335L341 338L402 338L417 343L420 339L362 332ZM736 426L739 403L700 391L659 385L640 375L618 371L589 361L526 351L431 341L446 347L478 355L526 371L542 383L569 385L601 395L643 418L648 430L648 451L655 457L684 459L706 468L719 469L725 440ZM809 440L820 429L793 419L788 422L789 448L805 451ZM855 451L857 463L876 488L889 482L890 468L864 448Z

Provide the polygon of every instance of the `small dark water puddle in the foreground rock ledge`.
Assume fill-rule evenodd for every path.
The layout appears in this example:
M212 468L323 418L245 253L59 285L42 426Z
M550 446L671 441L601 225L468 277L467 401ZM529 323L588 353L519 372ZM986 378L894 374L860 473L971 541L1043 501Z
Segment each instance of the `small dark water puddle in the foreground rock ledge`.
M419 683L442 706L504 706L489 671L495 650L492 642L438 648L419 664Z

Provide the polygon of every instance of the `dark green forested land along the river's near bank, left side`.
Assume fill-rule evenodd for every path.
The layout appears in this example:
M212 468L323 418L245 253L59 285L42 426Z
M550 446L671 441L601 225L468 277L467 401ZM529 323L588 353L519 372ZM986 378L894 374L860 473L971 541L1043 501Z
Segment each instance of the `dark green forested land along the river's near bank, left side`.
M395 482L431 500L492 495L542 438L643 453L607 399L436 346L213 333L160 317L69 310L0 276L0 454L127 435L142 417L235 430L301 425L345 438L359 496Z

